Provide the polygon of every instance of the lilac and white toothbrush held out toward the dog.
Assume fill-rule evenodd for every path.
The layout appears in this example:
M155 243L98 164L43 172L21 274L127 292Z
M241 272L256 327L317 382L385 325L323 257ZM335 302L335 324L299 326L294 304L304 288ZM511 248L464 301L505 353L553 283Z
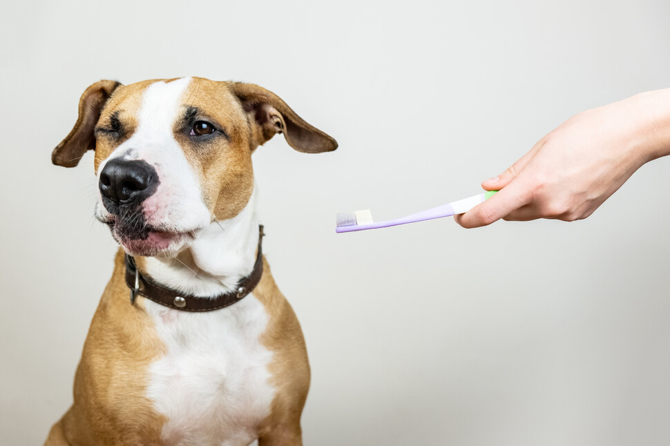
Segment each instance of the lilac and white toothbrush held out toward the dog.
M463 198L457 202L443 204L437 208L414 213L406 217L387 220L385 222L374 222L370 209L356 212L340 212L336 217L336 233L364 231L365 229L387 228L398 224L408 224L414 222L423 222L423 220L432 220L433 218L450 217L451 215L462 214L483 203L493 196L497 191L486 191L472 197Z

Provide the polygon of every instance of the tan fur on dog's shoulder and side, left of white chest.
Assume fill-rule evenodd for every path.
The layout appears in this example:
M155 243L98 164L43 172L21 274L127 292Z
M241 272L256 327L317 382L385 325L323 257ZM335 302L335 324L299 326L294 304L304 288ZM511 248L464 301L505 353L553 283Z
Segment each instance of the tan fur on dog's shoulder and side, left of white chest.
M75 403L58 423L69 442L62 444L162 444L164 420L144 395L146 368L163 345L142 300L130 305L124 274L119 249L77 367Z

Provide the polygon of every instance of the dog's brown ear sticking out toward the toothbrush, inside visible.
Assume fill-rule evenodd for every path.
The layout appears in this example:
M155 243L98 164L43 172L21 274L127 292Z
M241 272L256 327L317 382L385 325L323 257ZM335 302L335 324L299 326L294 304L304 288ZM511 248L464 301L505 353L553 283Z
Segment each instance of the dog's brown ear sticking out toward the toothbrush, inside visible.
M276 133L284 133L289 146L300 152L321 153L337 148L335 139L307 124L271 91L242 82L234 82L231 89L249 116L253 148L265 144Z

